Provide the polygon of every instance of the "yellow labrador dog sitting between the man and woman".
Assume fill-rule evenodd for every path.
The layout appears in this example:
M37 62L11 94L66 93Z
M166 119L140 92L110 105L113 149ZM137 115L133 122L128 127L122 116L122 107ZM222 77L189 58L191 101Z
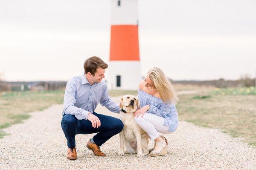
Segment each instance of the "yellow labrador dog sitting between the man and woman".
M125 153L137 153L137 157L143 157L148 152L148 135L134 121L133 113L139 109L139 101L136 96L124 95L120 102L122 109L120 119L124 124L120 136L119 156L124 156ZM124 152L124 145L126 151Z

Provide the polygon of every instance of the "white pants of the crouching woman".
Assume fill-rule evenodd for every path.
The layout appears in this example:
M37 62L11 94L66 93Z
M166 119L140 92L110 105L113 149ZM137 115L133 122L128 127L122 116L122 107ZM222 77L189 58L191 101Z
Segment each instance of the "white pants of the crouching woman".
M169 126L163 125L164 118L158 115L145 112L143 118L141 118L140 115L138 118L134 117L134 120L146 133L148 133L149 138L153 140L159 136L158 132L164 134L172 133L168 131Z

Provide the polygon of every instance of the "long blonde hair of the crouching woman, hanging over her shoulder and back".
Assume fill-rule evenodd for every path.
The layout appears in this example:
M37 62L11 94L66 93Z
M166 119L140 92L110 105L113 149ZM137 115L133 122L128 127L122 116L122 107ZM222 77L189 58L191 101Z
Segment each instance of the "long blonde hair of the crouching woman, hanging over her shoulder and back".
M160 98L165 103L175 103L179 101L171 82L166 78L160 68L154 67L148 71L148 76L154 82L154 88L159 92Z

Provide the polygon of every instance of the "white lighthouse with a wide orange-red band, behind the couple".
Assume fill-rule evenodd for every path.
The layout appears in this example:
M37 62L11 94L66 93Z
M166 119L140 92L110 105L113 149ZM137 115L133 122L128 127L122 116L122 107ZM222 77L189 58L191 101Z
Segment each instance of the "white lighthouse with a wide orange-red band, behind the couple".
M140 70L137 0L111 0L108 89L137 90Z

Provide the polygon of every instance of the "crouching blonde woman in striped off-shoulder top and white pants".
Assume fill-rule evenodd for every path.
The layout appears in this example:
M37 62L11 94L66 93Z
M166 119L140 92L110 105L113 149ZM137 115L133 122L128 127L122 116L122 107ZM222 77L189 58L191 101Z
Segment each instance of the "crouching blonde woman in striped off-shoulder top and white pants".
M170 134L177 129L177 95L163 71L157 67L149 70L140 82L138 97L140 109L134 112L136 123L155 141L150 156L167 154L167 139L158 132Z

